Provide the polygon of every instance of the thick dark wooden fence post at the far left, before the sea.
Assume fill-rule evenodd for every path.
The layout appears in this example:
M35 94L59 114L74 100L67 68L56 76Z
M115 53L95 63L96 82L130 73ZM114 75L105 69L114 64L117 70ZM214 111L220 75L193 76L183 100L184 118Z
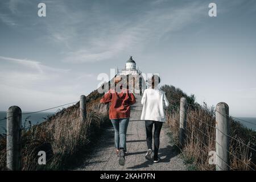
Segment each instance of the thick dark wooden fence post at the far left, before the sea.
M22 111L18 106L7 110L6 167L12 171L21 169Z

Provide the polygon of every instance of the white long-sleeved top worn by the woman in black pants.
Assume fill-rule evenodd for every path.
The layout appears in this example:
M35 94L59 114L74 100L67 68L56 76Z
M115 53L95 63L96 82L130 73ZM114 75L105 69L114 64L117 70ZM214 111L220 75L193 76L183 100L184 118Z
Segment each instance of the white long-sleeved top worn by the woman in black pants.
M141 104L143 105L141 120L166 121L164 109L169 106L166 93L152 88L144 90Z

